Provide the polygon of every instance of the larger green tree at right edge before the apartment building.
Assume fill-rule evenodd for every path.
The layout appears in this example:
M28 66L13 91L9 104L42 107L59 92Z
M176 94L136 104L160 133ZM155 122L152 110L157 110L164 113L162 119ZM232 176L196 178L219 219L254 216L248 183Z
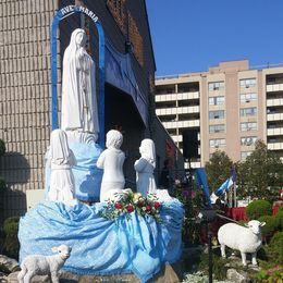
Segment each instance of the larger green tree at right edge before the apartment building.
M238 168L238 196L272 199L283 184L283 163L262 140Z

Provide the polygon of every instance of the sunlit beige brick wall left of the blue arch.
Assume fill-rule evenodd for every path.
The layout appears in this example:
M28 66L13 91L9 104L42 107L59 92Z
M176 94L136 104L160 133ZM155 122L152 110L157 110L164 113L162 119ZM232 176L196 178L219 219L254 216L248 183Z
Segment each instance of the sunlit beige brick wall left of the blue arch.
M1 218L25 211L25 190L44 188L49 144L49 30L57 1L0 2L0 174L10 189ZM9 210L7 210L9 208Z

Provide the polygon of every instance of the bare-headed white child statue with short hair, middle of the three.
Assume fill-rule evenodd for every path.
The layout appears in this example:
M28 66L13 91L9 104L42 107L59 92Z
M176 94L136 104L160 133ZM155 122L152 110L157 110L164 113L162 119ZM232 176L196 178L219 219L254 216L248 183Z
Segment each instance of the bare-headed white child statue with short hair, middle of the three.
M100 201L111 199L115 194L122 193L125 186L123 164L125 153L120 149L123 135L115 130L107 133L107 149L99 156L97 167L103 169L100 188Z

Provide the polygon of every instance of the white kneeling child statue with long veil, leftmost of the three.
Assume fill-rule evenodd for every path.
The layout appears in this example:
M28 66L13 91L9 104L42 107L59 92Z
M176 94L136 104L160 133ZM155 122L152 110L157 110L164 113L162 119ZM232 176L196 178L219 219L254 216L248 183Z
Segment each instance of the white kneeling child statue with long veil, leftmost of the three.
M76 160L69 148L66 134L62 130L54 130L50 137L50 188L48 199L62 201L65 205L74 204L75 180L72 167Z

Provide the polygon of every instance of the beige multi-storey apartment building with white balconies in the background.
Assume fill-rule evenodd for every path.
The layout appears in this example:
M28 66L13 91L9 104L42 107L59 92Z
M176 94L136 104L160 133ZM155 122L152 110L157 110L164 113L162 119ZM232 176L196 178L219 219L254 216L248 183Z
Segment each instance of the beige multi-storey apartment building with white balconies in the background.
M244 160L257 139L283 159L283 66L253 69L241 60L158 77L156 112L181 150L186 131L199 133L193 167L204 167L218 149Z

